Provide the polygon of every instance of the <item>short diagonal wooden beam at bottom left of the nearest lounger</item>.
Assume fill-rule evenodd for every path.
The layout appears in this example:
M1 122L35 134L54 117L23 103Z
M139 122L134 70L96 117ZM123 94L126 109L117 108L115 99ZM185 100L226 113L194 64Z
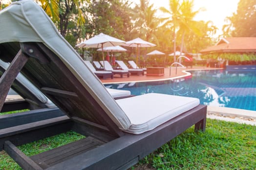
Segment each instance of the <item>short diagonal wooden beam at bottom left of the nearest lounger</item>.
M8 153L24 170L43 170L10 141L4 142L4 151Z

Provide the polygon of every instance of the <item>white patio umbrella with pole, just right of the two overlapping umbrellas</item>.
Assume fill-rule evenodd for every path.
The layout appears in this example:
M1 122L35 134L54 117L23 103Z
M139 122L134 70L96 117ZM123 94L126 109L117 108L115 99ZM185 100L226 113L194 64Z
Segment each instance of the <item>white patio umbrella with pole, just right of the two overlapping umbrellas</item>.
M138 65L138 52L140 47L154 47L155 44L152 44L148 41L144 41L141 38L135 38L133 40L127 41L125 45L127 47L137 47L137 57L136 57L136 65Z

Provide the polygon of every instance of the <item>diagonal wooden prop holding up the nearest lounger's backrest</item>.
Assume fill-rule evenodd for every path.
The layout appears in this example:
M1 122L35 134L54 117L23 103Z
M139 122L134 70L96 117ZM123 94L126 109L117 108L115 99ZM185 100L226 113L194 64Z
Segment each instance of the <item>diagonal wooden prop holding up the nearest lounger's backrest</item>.
M6 99L8 91L14 82L15 78L21 71L21 68L26 64L28 57L21 52L17 53L13 59L11 65L4 71L0 78L0 110L2 109L3 103Z

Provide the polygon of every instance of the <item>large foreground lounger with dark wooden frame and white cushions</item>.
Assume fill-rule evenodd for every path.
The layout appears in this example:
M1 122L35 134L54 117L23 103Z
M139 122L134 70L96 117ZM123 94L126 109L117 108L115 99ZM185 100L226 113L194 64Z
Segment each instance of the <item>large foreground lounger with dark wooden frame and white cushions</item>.
M23 169L128 169L193 124L205 129L206 106L195 98L114 100L36 2L12 3L0 22L0 58L11 62L0 79L0 104L21 72L67 115L0 129L0 151ZM86 138L30 157L16 147L69 130Z

